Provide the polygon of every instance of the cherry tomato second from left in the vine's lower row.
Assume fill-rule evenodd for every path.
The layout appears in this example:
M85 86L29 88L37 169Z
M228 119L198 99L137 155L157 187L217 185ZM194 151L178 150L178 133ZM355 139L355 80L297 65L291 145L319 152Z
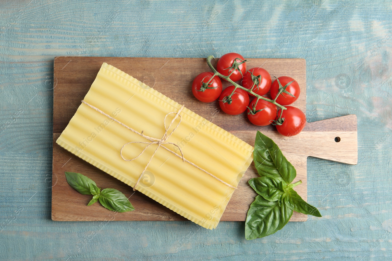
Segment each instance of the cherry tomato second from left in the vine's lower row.
M228 98L234 88L234 85L227 87L219 97L221 109L223 112L230 115L237 115L245 112L249 104L248 93L240 88L237 88L231 98Z

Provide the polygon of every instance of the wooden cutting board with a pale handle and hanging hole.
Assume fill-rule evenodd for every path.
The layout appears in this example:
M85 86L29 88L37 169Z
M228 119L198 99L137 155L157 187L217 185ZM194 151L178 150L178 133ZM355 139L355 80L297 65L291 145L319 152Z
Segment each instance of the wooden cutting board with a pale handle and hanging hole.
M216 65L217 61L218 59L215 59L213 64ZM303 182L296 187L296 191L304 200L307 200L307 157L357 164L356 115L307 123L304 130L294 137L280 135L274 126L254 126L245 113L236 116L227 115L220 110L218 102L202 103L194 98L191 92L194 77L201 72L211 71L205 58L56 57L53 92L52 220L187 220L144 194L133 192L131 187L120 180L56 144L56 139L87 94L103 62L123 70L174 101L185 104L190 110L252 146L257 130L269 136L296 168L297 178L294 181ZM247 68L252 67L263 67L271 76L290 76L296 79L301 86L301 95L292 105L306 114L304 59L250 59ZM224 82L223 88L228 85ZM98 187L118 189L130 197L129 200L136 210L113 216L111 211L103 208L99 203L87 206L91 196L82 195L72 189L65 179L64 171L82 173L93 179ZM249 205L256 196L253 189L249 187L248 180L256 176L258 175L252 164L232 195L221 221L245 221ZM316 207L322 206L316 205ZM294 212L290 221L306 220L307 215Z

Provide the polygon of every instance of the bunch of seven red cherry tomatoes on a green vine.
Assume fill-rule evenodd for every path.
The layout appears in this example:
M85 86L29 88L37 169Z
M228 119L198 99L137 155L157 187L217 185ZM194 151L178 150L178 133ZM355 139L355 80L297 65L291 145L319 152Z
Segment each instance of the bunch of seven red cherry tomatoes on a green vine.
M223 112L230 115L246 112L253 124L273 124L284 136L294 136L303 130L305 114L294 106L287 106L299 97L296 80L280 76L272 82L269 72L261 67L247 70L248 60L235 52L219 58L216 69L211 64L212 59L212 55L207 57L212 72L202 72L192 83L192 93L199 101L211 103L219 99ZM232 85L223 90L221 79ZM268 92L271 99L264 96Z

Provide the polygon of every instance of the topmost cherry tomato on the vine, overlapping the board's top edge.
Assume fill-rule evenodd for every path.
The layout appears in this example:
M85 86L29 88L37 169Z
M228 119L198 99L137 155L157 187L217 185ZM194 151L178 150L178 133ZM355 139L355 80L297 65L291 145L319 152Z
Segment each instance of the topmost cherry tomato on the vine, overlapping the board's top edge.
M224 76L229 76L231 73L230 80L239 81L246 72L246 63L244 61L245 59L241 54L229 52L228 54L223 54L222 57L219 58L216 70ZM239 65L239 63L241 64Z

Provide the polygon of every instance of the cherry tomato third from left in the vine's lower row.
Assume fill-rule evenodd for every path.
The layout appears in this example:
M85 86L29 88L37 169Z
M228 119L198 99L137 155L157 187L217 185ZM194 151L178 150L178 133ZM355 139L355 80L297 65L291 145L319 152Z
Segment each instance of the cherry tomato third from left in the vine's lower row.
M252 111L248 108L248 119L254 125L267 126L276 118L276 105L261 99L257 104L256 101L257 98L249 104L249 108L252 109ZM254 104L256 104L256 107L254 107Z

